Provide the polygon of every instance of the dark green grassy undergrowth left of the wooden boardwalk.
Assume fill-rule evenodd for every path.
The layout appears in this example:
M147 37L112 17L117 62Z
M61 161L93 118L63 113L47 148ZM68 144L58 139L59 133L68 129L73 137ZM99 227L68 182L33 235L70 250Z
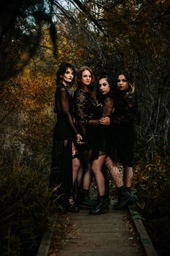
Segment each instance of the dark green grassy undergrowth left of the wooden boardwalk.
M48 175L1 157L0 194L1 255L31 253L58 205L58 197L51 200Z

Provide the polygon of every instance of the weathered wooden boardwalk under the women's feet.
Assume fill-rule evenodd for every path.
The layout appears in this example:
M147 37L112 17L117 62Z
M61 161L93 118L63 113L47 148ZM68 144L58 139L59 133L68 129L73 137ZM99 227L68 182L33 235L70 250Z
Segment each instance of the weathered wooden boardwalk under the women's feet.
M74 236L57 256L146 256L130 223L128 210L90 216L88 211L68 213ZM148 255L151 256L151 255Z

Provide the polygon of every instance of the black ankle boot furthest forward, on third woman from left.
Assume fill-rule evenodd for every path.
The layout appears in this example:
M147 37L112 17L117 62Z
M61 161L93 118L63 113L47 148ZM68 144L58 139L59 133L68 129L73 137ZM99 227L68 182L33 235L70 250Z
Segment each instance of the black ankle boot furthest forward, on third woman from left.
M107 212L108 210L109 210L109 205L106 202L104 196L99 196L97 205L95 205L94 208L92 208L89 211L89 214L90 215L99 215L101 213Z

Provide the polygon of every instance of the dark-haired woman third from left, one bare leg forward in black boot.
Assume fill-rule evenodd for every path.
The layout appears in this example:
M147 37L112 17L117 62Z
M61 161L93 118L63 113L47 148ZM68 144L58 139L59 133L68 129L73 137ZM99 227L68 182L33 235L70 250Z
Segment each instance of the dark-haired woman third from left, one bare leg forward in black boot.
M107 184L107 172L103 175L102 168L108 153L109 124L114 111L114 82L109 74L101 74L99 76L97 95L102 111L99 119L89 120L88 122L88 127L91 130L91 145L94 151L91 168L98 190L98 203L89 211L91 215L102 213L106 208L108 209L109 195L107 193L109 191L106 189L108 189L109 185Z

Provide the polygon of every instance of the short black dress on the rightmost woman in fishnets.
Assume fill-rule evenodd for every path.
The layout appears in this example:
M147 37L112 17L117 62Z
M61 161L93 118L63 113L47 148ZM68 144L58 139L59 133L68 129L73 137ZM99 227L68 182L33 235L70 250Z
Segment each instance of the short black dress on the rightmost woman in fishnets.
M133 166L135 139L134 119L137 114L135 93L118 92L110 124L109 156L112 161Z

